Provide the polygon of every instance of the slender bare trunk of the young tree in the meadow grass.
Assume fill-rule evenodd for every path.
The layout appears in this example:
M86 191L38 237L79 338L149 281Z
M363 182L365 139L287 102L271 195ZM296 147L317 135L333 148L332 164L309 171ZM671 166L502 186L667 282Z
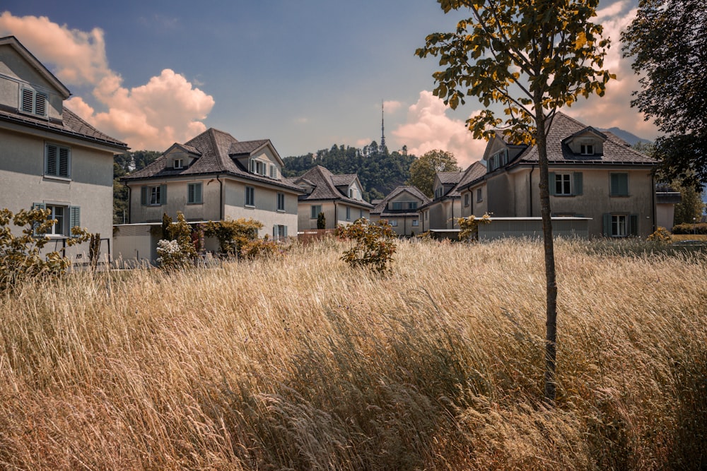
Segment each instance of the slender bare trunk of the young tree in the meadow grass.
M555 280L555 253L552 240L552 220L550 210L550 184L547 162L547 140L545 117L542 107L536 107L537 136L540 169L540 214L542 215L542 239L545 251L545 378L544 401L548 406L555 404L555 369L557 354L557 283Z

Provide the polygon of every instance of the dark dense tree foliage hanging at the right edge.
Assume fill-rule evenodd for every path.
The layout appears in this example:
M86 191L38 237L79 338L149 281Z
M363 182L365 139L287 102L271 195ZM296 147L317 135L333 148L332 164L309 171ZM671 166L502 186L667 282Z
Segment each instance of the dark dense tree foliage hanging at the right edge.
M697 0L641 0L621 35L641 90L631 105L665 136L659 172L698 191L707 184L707 8Z

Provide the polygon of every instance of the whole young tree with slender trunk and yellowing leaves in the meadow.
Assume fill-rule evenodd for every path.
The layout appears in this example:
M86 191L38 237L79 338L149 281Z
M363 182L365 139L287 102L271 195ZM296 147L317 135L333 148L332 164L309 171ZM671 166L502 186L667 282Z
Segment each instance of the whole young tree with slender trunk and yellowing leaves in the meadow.
M438 0L445 13L468 8L455 32L433 33L417 49L439 57L434 94L452 108L464 96L485 109L467 120L476 138L503 132L510 141L537 145L545 257L546 340L544 398L553 405L556 366L557 284L550 219L546 137L556 110L580 97L604 94L613 78L603 70L609 46L590 20L599 0ZM505 119L490 108L500 104ZM502 129L502 131L501 131Z

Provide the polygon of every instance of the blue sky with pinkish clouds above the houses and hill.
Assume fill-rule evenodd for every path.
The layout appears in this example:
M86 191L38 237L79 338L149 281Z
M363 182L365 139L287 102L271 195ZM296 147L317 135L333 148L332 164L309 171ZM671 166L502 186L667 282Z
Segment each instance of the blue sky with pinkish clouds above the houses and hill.
M621 58L636 4L601 0L595 21L617 80L563 112L653 140ZM446 107L432 94L436 59L414 55L464 16L434 0L3 0L0 12L0 37L16 36L71 90L66 106L132 150L163 151L209 128L268 138L281 157L360 148L380 143L382 105L391 151L447 150L467 167L486 146L464 125L481 105Z

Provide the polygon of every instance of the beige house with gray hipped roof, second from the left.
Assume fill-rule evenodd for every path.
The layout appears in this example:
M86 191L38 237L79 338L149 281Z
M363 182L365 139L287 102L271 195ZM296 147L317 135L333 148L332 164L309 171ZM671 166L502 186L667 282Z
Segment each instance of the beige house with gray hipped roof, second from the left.
M264 226L260 237L294 235L304 191L282 177L282 166L269 139L238 141L207 129L122 179L129 188L129 222L160 222L165 213L175 219L177 212L192 222L250 217Z

